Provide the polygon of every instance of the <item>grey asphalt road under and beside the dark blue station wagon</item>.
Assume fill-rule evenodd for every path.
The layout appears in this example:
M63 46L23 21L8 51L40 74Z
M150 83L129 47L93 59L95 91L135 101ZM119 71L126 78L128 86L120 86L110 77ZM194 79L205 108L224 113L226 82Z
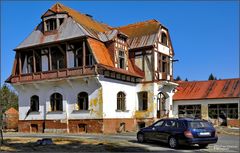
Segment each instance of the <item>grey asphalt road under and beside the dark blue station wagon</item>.
M128 146L142 148L152 152L239 152L239 136L234 135L218 135L219 140L216 144L211 144L208 148L200 149L198 146L184 146L177 150L170 149L166 144L159 142L148 142L140 144L136 141L135 133L123 134L32 134L32 133L4 133L4 137L27 137L27 138L84 138L109 142L126 142ZM127 150L133 151L133 150Z

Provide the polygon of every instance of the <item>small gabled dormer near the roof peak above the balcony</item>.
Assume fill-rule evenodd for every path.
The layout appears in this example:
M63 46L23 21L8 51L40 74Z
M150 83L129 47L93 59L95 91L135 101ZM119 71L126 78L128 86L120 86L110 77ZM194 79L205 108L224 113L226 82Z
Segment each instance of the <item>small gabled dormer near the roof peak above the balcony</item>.
M64 11L60 4L55 4L42 15L44 33L54 32L59 29L64 20L68 17L68 13Z

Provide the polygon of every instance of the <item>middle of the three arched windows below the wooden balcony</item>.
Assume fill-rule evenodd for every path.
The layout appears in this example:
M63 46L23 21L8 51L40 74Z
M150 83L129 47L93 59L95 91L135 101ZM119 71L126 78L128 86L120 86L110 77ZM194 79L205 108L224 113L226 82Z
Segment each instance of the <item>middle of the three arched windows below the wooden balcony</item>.
M51 111L63 110L63 98L60 93L53 93L50 97Z

